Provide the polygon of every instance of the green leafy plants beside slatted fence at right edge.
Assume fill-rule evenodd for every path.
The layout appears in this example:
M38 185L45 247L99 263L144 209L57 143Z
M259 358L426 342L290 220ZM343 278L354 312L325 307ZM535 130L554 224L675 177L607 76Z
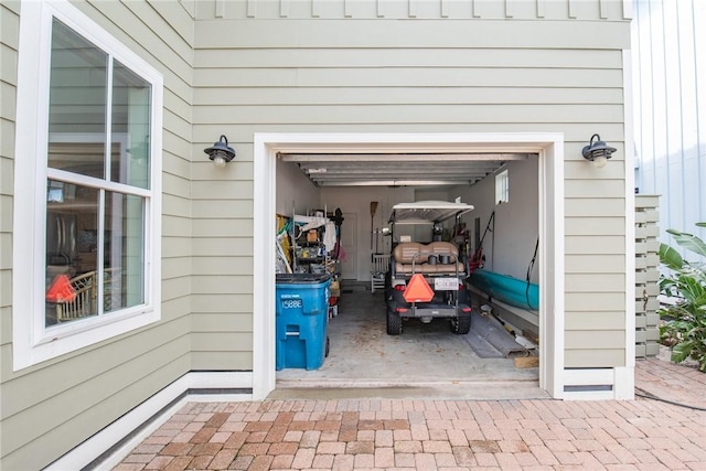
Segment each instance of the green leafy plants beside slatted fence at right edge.
M697 223L706 227L706 223ZM698 237L668 229L676 243L706 257L706 244ZM672 346L672 362L695 360L698 368L706 372L706 270L703 261L688 261L666 244L660 246L660 261L672 274L660 280L661 292L675 300L672 306L660 308L665 321L660 328L660 339Z

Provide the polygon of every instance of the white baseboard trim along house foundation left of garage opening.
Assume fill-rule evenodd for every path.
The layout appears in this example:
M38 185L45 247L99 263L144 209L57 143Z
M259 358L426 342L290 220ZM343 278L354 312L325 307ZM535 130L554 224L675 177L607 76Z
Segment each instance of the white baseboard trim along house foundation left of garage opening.
M186 403L246 402L250 372L190 372L78 445L47 470L78 470L89 464L110 470Z

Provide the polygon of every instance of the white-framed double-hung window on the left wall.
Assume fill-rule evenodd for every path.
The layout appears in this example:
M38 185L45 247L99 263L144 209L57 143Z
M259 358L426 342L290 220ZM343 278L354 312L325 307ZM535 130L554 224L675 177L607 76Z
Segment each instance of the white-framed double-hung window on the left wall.
M154 322L160 301L162 77L67 1L20 21L15 370Z

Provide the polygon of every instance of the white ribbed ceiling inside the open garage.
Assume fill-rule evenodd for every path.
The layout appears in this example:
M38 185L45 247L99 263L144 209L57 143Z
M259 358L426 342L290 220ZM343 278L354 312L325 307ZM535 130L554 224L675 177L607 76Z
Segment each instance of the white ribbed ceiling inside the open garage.
M317 186L473 184L526 153L279 153Z

